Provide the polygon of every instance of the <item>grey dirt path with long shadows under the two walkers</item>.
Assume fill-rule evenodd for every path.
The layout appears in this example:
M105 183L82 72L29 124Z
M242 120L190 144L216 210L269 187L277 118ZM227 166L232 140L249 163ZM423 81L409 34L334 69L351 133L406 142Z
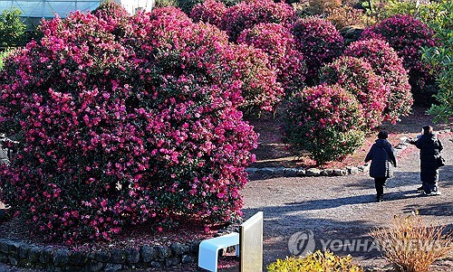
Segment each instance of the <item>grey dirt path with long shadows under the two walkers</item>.
M265 264L290 255L289 239L299 231L313 231L316 249L323 244L339 250L340 241L359 239L361 247L341 249L364 267L383 266L377 250L371 248L371 228L388 226L394 215L418 210L436 224L453 229L453 143L451 133L441 136L443 156L448 165L440 170L442 195L421 197L419 187L419 151L410 146L400 158L395 176L385 188L384 202L375 202L375 189L368 174L345 177L275 177L247 183L244 190L245 218L255 211L265 214ZM294 238L294 237L293 237ZM331 246L328 240L338 239ZM348 242L348 241L345 241ZM294 244L293 244L294 245ZM368 247L367 249L365 249ZM352 247L354 248L354 247ZM433 271L453 271L453 258L434 267Z

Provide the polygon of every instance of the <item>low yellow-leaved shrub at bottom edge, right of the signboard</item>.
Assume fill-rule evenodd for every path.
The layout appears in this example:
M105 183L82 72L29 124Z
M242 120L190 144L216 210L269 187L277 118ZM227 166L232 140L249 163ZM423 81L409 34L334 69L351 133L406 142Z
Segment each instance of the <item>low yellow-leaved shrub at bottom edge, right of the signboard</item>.
M363 272L363 268L352 264L352 257L336 256L330 251L317 250L305 257L277 259L267 266L268 272Z

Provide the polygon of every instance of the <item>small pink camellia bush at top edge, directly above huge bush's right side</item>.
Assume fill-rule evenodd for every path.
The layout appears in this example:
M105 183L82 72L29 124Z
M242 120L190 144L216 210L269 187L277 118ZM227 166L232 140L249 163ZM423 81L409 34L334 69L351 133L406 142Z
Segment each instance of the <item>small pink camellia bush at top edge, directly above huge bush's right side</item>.
M226 5L217 0L207 0L195 5L190 13L194 22L212 23L219 26L223 14L226 12Z

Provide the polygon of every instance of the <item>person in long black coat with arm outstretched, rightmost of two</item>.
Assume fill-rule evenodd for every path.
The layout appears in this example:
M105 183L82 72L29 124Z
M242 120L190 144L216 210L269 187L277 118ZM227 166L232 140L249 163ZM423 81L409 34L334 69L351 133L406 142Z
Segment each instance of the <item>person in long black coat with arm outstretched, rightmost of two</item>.
M422 127L418 139L410 139L410 144L420 150L420 179L424 195L438 195L440 151L443 145L431 126Z

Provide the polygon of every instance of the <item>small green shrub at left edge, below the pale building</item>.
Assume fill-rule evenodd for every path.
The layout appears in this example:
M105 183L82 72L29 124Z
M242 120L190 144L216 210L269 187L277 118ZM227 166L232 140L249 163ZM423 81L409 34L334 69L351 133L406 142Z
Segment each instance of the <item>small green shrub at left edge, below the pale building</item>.
M6 9L0 14L0 47L24 45L26 25L21 22L20 14L18 8Z

